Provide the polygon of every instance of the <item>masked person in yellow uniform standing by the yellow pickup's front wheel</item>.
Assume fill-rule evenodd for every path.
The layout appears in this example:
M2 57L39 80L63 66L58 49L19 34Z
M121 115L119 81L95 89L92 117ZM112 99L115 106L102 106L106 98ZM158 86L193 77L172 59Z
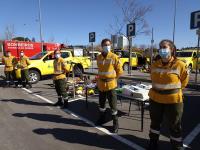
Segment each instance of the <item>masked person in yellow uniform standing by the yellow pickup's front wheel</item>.
M20 51L20 58L18 62L18 67L21 69L21 80L22 80L22 86L27 88L32 88L32 85L30 83L29 79L29 72L28 72L28 66L30 65L30 60L27 56L24 55L24 51Z

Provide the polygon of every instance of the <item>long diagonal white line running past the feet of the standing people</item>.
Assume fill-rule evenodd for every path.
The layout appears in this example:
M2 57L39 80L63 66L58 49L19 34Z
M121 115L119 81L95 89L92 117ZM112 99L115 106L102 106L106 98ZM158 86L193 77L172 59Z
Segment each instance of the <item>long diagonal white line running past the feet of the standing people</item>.
M27 91L27 92L30 93L30 94L33 93L32 91L30 91L30 90L28 90L28 89L26 89L26 88L22 88L22 89L25 90L25 91ZM36 96L36 97L38 97L38 98L40 98L40 99L43 100L43 101L46 101L46 102L48 102L48 103L53 104L52 101L50 101L49 99L47 99L47 98L45 98L45 97L42 97L42 96L37 95L37 94L33 94L33 95ZM120 135L111 133L110 131L108 131L107 129L105 129L105 128L103 128L103 127L95 126L94 123L91 122L90 120L88 120L88 119L86 119L86 118L84 118L84 117L82 117L82 116L79 116L78 114L76 114L76 113L70 111L69 109L63 109L63 111L65 111L66 113L68 113L68 114L74 116L75 118L78 118L78 119L84 121L84 122L87 123L88 125L90 125L90 126L96 128L97 130L99 130L99 131L101 131L101 132L103 132L103 133L105 133L105 134L107 134L107 135L110 135L110 136L113 137L114 139L116 139L116 140L118 140L118 141L120 141L120 142L122 142L122 143L124 143L124 144L126 144L126 145L128 145L128 146L130 146L131 148L134 148L134 149L136 149L136 150L145 150L143 147L141 147L141 146L139 146L139 145L137 145L137 144L135 144L135 143L133 143L133 142L127 140L126 138L121 137Z

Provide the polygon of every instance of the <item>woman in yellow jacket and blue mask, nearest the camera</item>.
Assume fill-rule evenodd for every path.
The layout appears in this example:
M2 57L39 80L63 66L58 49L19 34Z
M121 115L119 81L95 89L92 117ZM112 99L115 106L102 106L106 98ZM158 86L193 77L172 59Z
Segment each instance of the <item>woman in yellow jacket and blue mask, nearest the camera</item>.
M166 116L172 150L180 150L183 146L181 137L182 90L188 84L188 69L184 62L176 58L176 47L172 41L162 40L159 46L160 59L157 59L151 66L152 88L149 91L151 125L148 149L158 149L160 128Z

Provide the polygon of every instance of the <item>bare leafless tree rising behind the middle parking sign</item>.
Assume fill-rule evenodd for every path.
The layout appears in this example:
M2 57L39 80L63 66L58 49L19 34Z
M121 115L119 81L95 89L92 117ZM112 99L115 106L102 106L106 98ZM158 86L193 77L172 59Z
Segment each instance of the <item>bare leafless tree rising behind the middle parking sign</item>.
M126 24L136 24L136 36L150 34L145 15L151 11L151 6L142 6L137 0L115 0L122 12L122 18L115 16L114 24L110 24L112 34L121 35Z

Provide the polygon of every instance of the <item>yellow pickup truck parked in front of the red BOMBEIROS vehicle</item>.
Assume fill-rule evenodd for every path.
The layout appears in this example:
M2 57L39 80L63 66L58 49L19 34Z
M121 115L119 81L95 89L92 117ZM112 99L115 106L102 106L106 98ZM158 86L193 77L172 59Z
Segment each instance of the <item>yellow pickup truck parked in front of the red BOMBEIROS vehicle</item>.
M64 58L67 65L74 69L75 74L84 72L85 68L91 65L88 57L73 57L70 50L61 50L61 57ZM37 83L42 76L52 75L54 73L53 61L54 51L46 51L38 53L30 57L31 65L29 65L29 77L32 83Z

